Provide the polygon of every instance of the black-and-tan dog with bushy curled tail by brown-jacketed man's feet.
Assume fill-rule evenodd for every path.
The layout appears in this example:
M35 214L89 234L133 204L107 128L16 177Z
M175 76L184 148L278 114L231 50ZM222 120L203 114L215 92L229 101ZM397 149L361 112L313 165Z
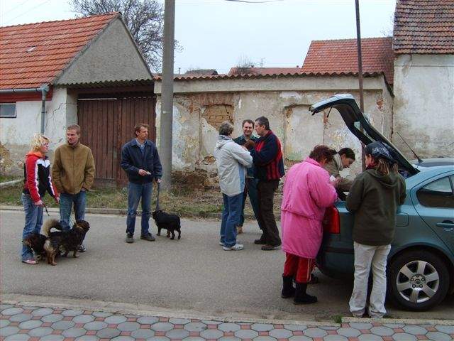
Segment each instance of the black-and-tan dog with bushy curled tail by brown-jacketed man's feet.
M60 231L50 232L52 227ZM77 249L82 244L85 234L90 229L90 224L85 220L78 220L74 223L72 229L67 231L61 231L61 229L60 222L55 219L47 220L44 224L43 232L49 236L49 239L44 243L44 249L48 256L48 264L57 265L55 263L55 256L59 253L60 247L65 250L64 256L67 256L72 251L72 256L76 258Z

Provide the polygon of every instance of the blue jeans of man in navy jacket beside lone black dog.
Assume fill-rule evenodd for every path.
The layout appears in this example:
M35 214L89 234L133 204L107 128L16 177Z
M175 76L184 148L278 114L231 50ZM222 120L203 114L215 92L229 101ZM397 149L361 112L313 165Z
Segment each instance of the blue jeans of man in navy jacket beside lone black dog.
M128 183L128 217L126 218L126 233L134 234L135 215L140 198L142 198L142 231L141 235L148 234L150 228L148 220L151 216L151 195L153 183Z

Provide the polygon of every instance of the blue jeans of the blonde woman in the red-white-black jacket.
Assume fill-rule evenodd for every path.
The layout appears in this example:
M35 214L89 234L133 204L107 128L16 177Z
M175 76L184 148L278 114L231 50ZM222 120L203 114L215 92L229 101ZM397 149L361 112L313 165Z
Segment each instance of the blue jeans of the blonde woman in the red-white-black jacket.
M26 213L26 224L23 227L22 239L32 233L40 233L43 225L43 206L36 206L29 194L22 193L21 200L23 210ZM22 245L22 260L33 259L33 251L30 247Z

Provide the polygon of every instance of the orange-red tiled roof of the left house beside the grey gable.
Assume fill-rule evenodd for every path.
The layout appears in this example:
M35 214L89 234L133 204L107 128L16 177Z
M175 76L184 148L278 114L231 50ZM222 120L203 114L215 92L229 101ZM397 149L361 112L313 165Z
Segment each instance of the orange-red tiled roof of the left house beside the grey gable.
M0 89L52 83L120 13L0 27Z

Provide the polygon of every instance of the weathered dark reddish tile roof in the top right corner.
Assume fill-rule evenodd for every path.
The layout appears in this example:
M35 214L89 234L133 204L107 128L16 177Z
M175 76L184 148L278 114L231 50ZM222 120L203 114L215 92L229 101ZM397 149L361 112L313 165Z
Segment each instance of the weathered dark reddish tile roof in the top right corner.
M453 0L398 0L395 53L454 53Z

